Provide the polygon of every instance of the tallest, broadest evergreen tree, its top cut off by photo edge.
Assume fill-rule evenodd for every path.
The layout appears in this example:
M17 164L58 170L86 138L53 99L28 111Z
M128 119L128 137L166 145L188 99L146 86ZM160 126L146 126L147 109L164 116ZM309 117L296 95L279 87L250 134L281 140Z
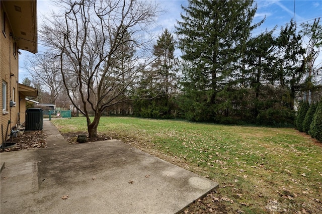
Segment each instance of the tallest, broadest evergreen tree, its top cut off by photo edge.
M179 48L185 61L183 100L186 115L194 120L211 120L216 114L217 93L234 76L243 54L256 7L252 0L197 1L182 7L182 22L176 26ZM189 105L187 103L189 102Z

